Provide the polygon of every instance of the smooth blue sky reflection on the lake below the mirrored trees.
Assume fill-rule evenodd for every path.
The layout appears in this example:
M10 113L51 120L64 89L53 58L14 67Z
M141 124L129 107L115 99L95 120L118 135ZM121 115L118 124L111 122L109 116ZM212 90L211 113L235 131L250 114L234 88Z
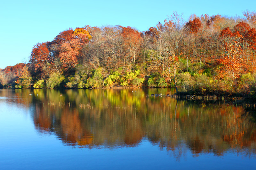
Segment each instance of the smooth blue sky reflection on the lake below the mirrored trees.
M33 110L0 99L1 169L255 169L255 154L229 149L223 156L211 153L192 154L181 142L175 151L167 151L146 138L135 147L67 146L54 134L38 133ZM179 151L181 151L181 156ZM246 150L246 149L245 149Z

